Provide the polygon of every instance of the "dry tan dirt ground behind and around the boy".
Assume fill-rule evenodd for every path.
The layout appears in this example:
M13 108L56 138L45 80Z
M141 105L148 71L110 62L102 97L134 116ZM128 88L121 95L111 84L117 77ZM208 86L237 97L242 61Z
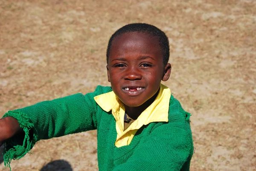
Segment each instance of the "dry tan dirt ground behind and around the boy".
M255 0L1 0L0 116L109 85L108 38L134 22L169 37L165 84L192 113L191 171L256 171ZM12 171L98 170L96 131L43 140L31 152Z

